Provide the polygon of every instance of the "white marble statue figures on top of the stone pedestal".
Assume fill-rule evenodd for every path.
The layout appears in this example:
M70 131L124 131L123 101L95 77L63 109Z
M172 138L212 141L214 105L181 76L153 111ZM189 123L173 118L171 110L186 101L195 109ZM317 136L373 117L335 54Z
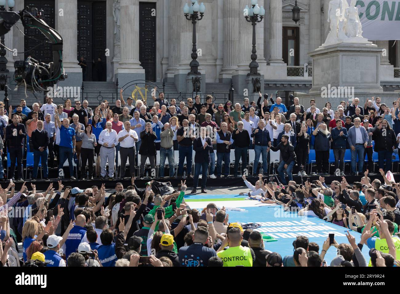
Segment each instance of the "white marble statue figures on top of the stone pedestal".
M321 47L338 43L370 43L362 37L356 0L331 0L328 8L330 32Z

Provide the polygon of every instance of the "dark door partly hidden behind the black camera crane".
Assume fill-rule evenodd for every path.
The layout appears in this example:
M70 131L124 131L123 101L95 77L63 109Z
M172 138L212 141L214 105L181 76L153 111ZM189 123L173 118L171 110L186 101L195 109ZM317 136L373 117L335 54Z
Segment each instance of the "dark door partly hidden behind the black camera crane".
M54 28L55 23L55 8L54 0L26 0L24 6L29 6L30 8L37 8L44 10L44 21L46 24ZM30 51L24 53L24 58L32 56L38 61L49 63L53 61L53 52L49 43L44 43L48 40L44 34L42 34L37 28L24 28L24 51ZM35 47L36 46L36 47Z

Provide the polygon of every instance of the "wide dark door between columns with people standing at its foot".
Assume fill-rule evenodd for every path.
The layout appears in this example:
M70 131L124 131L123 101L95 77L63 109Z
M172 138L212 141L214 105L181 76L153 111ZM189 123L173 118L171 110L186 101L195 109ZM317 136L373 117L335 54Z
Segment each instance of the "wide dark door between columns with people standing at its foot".
M78 1L78 56L86 60L86 80L98 80L92 60L102 58L106 80L106 1Z

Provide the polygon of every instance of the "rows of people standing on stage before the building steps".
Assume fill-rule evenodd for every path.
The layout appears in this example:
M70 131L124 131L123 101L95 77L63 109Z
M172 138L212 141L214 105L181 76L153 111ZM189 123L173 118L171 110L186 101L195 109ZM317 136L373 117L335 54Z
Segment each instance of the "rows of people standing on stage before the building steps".
M205 103L196 96L194 100L188 98L187 105L180 101L179 106L176 99L166 101L162 92L158 98L152 98L152 105L142 100L134 103L132 97L125 101L121 89L115 106L104 101L92 109L87 100L82 105L76 100L72 107L69 99L57 106L47 97L46 104L34 103L33 110L21 100L14 110L10 106L8 116L0 105L3 148L7 148L4 150L11 162L9 178L15 180L16 168L17 180L23 180L22 158L26 148L33 153L32 180L38 176L39 162L44 179L48 180L48 167L54 166L55 159L58 180L65 178L64 165L68 166L72 180L76 179L74 166L76 176L83 180L93 179L95 169L101 180L114 180L133 176L136 168L140 178L162 179L168 166L169 178L193 178L194 174L193 191L199 180L204 191L207 177L240 177L245 171L268 176L270 150L280 151L277 171L286 184L285 176L292 180L292 174L307 175L304 166L310 150L315 150L316 174L330 174L332 149L335 167L331 174L344 175L344 157L349 150L351 174L361 175L368 169L372 175L374 152L379 168L387 172L392 168L393 153L397 154L400 146L400 98L392 107L381 103L380 97L366 99L364 105L358 98L351 104L342 101L333 109L326 102L321 111L314 99L306 109L295 97L294 104L286 108L280 97L269 105L268 94L261 93L257 102L244 98L243 105L232 105L230 101L216 105L210 95ZM249 162L249 150L254 150L254 162ZM368 164L364 165L366 157ZM126 175L127 162L130 175ZM150 174L146 162L150 163ZM259 166L258 162L262 164ZM0 179L4 178L2 171L0 168Z

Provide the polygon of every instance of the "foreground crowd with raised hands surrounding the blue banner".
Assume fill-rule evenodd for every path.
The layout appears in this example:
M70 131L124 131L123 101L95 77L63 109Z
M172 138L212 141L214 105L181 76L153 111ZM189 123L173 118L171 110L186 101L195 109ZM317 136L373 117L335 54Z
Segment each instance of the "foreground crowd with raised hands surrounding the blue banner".
M256 228L230 221L225 207L190 208L186 181L177 188L155 181L138 187L132 177L108 197L104 184L82 190L59 181L58 190L51 183L38 193L24 183L15 194L10 183L0 190L0 266L400 266L400 183L381 172L384 182L370 182L366 172L361 182L349 185L343 177L329 186L323 177L284 186L264 182L262 174L253 186L243 176L250 198L347 230L348 242L327 236L322 248L299 233L286 256L268 250ZM10 220L13 208L24 214ZM350 231L362 233L360 240ZM330 247L338 251L327 263Z

